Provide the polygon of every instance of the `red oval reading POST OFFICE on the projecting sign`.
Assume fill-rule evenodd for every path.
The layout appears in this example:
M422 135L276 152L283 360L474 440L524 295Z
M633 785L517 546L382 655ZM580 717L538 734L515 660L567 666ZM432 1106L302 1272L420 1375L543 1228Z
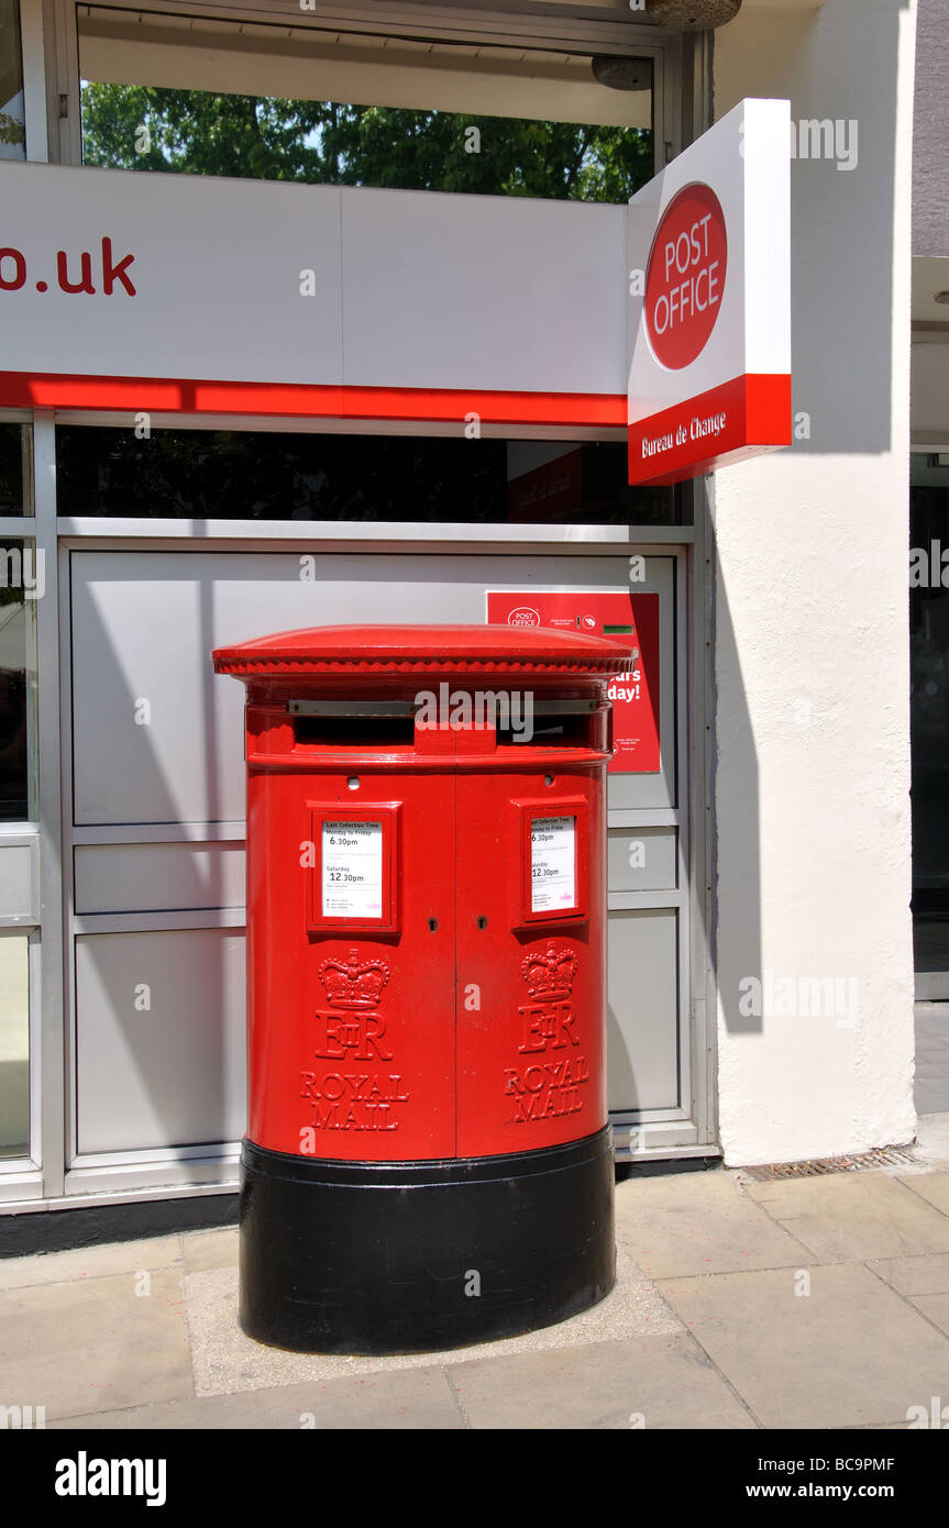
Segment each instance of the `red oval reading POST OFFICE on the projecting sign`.
M721 312L726 267L721 202L700 182L683 186L662 215L646 266L646 335L671 371L704 350Z

